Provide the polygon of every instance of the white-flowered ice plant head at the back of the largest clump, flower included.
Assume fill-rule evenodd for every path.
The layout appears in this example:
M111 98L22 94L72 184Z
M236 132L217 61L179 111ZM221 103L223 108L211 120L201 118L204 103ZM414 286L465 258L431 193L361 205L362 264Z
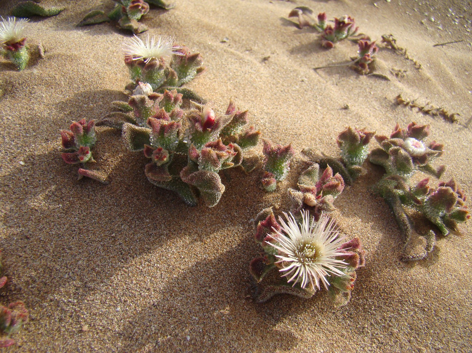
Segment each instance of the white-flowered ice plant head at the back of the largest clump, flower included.
M151 85L156 92L162 93L165 88L178 89L189 98L195 98L190 90L180 87L203 72L199 53L191 54L187 48L174 45L170 38L149 35L145 41L136 36L125 41L123 51L132 81L126 86L130 91L138 82L143 82ZM168 57L169 64L166 62Z

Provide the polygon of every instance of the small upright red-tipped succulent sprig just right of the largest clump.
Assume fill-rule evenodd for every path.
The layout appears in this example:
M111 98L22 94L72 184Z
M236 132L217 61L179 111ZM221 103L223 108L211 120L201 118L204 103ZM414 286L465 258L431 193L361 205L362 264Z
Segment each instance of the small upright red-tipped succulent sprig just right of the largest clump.
M277 182L284 180L290 170L290 160L295 155L295 150L290 144L272 144L267 139L262 139L264 147L264 174L261 178L262 187L265 191L273 192L277 188Z

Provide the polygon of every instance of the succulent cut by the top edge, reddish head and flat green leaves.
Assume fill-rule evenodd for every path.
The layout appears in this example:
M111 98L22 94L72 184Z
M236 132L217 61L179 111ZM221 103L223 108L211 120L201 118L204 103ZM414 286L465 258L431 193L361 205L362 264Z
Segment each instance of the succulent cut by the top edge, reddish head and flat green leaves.
M105 12L101 10L93 10L85 15L77 26L113 21L117 22L122 29L137 34L145 32L148 29L144 24L140 24L138 21L143 15L149 12L149 3L166 10L174 7L173 4L164 0L147 0L147 2L143 0L113 1L115 2L115 7L108 14L105 14Z

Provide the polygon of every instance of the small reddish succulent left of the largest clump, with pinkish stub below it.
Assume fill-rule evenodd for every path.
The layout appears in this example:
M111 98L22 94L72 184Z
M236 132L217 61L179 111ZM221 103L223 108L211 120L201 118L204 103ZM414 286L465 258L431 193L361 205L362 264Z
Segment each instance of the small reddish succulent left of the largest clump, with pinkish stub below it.
M87 163L93 163L91 149L97 141L95 134L95 120L87 122L85 119L73 121L69 130L60 130L62 147L66 152L61 153L62 159L67 164L80 164L78 170L79 177L83 176L108 184L106 177L100 172L88 169Z

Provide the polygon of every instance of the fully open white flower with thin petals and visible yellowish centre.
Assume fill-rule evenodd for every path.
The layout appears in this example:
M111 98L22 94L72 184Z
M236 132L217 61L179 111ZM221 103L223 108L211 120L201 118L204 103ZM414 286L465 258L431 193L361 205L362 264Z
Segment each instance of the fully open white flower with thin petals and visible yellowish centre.
M342 244L344 237L339 237L339 232L335 229L336 223L333 219L321 215L318 222L314 221L309 212L303 210L302 225L297 224L295 217L284 212L287 222L278 217L284 235L274 229L277 235L269 236L277 241L267 242L278 250L278 260L281 264L279 270L287 277L287 282L300 283L305 288L308 283L320 289L320 282L328 289L329 282L326 276L344 276L340 268L346 268L346 263L336 259L337 256L346 255L338 252L337 248Z

